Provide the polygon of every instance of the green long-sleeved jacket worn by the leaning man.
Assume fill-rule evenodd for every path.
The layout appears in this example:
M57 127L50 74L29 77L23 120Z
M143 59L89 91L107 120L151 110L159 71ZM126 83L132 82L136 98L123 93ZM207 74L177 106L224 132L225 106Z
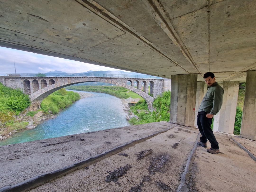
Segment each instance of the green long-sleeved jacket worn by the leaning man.
M208 87L207 93L200 104L198 112L205 111L212 115L216 115L222 105L223 93L223 88L218 85L217 82Z

